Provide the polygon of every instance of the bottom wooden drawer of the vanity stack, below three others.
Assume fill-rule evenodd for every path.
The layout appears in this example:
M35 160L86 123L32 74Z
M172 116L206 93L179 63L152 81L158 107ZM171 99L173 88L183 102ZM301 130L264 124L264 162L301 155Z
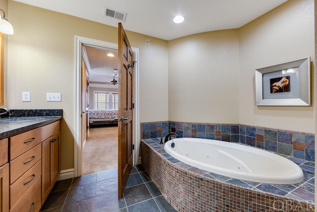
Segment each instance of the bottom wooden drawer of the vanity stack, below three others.
M41 178L10 209L10 212L38 212L41 209Z

